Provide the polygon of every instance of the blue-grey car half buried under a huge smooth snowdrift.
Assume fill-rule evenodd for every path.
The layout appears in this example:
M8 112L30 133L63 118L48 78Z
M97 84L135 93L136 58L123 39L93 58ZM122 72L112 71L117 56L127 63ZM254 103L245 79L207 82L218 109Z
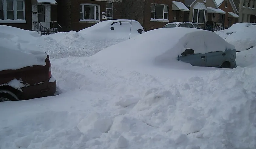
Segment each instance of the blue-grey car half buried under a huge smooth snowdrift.
M110 46L91 58L106 66L154 73L163 72L163 68L191 69L191 65L234 68L236 50L211 31L160 28ZM168 74L172 69L164 71Z

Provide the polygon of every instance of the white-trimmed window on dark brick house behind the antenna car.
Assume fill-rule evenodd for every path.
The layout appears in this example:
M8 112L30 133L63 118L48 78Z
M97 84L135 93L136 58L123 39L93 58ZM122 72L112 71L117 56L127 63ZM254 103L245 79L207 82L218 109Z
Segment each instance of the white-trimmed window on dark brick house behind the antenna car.
M80 21L100 21L100 6L96 4L80 4Z

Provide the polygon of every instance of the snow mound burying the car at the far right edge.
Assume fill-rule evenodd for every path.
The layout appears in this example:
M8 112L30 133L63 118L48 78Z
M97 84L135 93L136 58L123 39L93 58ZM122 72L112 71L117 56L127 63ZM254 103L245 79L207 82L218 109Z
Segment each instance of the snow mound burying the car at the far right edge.
M237 51L247 50L256 46L256 26L240 29L232 34L227 35L225 30L216 31L216 34L225 39L228 43L233 44Z

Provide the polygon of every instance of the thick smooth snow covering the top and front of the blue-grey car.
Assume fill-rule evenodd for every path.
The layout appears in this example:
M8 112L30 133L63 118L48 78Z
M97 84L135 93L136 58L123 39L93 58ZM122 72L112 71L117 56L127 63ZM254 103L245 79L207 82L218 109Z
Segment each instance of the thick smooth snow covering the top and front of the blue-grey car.
M187 48L194 49L194 53L206 53L216 49L234 49L234 46L211 31L195 28L160 28L110 46L91 58L105 65L127 69L158 69L159 65L165 64L178 66L178 55Z

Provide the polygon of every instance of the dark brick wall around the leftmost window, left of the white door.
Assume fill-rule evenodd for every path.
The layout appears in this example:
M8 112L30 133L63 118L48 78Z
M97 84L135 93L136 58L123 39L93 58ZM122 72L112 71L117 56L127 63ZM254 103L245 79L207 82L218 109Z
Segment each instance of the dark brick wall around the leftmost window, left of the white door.
M25 30L32 30L32 4L31 0L25 0L25 20L27 23L0 23L0 25L8 25Z

